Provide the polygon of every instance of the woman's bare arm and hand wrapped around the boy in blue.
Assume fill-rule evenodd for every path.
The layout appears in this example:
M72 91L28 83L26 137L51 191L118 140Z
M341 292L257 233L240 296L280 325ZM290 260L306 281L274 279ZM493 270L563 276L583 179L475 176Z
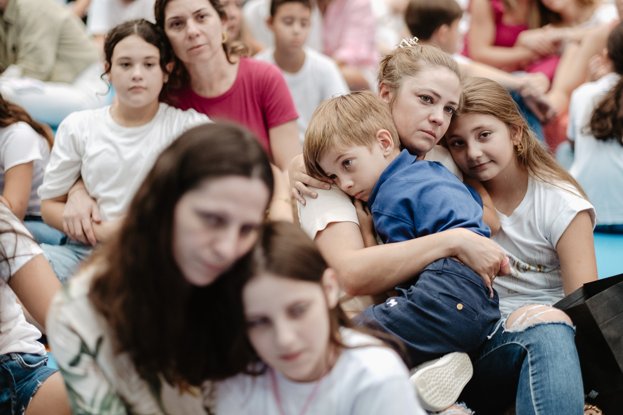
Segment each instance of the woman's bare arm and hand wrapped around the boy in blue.
M329 266L340 274L340 284L350 296L387 292L409 281L428 264L455 256L482 277L510 272L502 249L492 240L464 228L450 229L409 241L364 248L359 226L333 222L316 234L316 245Z

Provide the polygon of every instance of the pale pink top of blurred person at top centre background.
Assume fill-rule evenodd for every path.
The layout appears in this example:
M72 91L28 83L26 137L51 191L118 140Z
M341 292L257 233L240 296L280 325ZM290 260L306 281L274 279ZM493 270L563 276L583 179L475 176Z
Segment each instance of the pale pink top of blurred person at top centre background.
M353 66L376 66L370 0L333 0L323 16L323 52Z

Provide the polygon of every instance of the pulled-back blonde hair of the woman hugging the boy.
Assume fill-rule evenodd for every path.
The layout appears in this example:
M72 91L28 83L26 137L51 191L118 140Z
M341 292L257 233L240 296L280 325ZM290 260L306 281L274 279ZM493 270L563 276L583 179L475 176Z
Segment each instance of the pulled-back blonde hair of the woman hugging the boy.
M448 52L436 45L415 44L399 47L383 55L379 63L379 88L385 83L391 89L389 106L391 107L404 83L409 77L416 77L425 65L437 68L447 68L459 77L462 83L463 75L459 63Z

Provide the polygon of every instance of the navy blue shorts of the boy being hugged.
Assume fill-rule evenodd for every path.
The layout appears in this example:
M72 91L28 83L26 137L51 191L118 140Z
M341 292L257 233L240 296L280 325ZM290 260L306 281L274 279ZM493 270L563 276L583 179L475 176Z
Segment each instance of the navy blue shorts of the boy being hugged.
M412 366L450 352L476 352L500 320L497 292L489 298L482 278L452 258L430 263L407 284L355 320L399 338Z

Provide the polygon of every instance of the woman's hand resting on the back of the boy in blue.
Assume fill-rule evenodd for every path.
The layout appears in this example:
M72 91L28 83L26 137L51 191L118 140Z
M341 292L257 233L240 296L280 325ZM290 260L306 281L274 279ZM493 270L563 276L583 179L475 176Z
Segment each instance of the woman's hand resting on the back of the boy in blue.
M506 262L504 251L489 238L465 228L455 228L449 231L455 232L456 253L454 256L482 278L485 285L490 289L490 297L493 297L492 276L503 276L510 273L510 264L500 268L500 265Z

